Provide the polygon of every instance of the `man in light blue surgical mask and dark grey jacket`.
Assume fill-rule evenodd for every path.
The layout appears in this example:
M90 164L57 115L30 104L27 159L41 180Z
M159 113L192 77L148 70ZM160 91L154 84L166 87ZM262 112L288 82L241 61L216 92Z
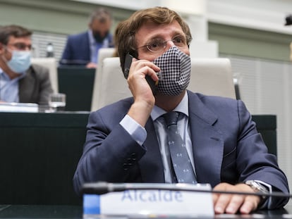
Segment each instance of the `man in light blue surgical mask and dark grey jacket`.
M31 65L32 32L18 25L0 27L0 101L47 105L53 92L49 70Z

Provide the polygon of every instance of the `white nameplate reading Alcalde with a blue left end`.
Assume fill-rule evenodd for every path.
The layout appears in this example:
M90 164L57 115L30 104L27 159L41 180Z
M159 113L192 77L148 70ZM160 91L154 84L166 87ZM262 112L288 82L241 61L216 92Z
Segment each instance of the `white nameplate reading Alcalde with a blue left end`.
M213 217L209 184L197 184L197 191L164 189L126 190L108 194L84 194L83 215L143 215L147 217Z

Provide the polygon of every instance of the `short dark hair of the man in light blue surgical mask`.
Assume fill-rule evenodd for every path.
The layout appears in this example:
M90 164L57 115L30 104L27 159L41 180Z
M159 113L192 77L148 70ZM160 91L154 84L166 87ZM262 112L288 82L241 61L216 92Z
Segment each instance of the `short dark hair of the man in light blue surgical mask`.
M0 43L7 45L9 37L30 37L32 31L18 25L6 25L0 27Z

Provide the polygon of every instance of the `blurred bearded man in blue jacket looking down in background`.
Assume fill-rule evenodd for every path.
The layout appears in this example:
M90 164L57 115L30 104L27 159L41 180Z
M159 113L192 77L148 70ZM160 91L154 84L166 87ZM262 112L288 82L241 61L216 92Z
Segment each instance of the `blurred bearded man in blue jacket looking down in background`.
M98 50L114 47L111 28L111 14L104 8L98 8L90 15L89 30L67 39L66 47L60 61L61 65L85 65L96 68Z

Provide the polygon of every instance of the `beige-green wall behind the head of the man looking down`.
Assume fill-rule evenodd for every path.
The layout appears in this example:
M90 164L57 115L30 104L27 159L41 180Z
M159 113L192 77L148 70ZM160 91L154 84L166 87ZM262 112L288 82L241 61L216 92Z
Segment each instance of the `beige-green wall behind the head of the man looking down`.
M97 4L69 0L1 0L0 25L18 24L41 32L73 34L87 30L88 15ZM132 13L107 7L113 14L114 27Z

